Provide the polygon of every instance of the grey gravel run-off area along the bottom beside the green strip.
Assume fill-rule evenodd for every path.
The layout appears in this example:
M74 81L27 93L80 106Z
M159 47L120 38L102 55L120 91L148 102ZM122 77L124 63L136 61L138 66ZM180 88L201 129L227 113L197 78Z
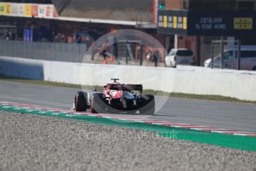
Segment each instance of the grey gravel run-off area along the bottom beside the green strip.
M256 152L119 126L0 111L0 171L256 170Z

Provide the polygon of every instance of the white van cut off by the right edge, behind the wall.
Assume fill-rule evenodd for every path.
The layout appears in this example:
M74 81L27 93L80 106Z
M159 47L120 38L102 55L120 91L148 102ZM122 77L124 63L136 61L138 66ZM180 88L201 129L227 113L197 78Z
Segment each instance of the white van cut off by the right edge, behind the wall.
M205 60L204 65L211 68L211 59ZM214 57L214 68L220 68L220 54ZM237 69L236 49L226 49L223 52L223 68ZM241 48L240 69L256 71L256 48Z

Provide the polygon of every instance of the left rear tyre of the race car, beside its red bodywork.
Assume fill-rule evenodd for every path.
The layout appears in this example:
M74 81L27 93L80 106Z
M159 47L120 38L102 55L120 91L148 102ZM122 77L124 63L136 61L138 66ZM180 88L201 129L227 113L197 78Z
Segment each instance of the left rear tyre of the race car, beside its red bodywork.
M93 93L91 95L91 106L90 106L90 111L92 113L104 113L106 112L106 103L104 99L104 94L103 93Z

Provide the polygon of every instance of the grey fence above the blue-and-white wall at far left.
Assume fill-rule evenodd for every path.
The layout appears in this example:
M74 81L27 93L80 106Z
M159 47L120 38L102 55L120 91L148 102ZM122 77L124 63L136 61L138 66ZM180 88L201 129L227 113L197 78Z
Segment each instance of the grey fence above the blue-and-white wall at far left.
M85 44L0 40L2 57L20 57L60 62L83 62Z

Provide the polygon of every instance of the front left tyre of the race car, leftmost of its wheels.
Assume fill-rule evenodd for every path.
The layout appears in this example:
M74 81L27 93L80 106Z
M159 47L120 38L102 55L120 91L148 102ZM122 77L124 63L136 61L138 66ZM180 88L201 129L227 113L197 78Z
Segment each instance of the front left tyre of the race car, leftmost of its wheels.
M87 105L87 93L78 91L74 97L74 110L77 112L86 112L87 108L89 108Z

